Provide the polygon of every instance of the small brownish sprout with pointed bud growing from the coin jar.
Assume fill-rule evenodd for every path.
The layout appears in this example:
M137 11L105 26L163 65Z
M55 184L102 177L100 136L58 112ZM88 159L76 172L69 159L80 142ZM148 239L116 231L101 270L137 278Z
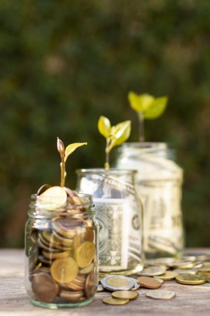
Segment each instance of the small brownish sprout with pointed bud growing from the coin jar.
M69 144L66 148L64 147L64 144L61 139L57 137L57 150L60 154L61 163L60 163L60 186L65 186L65 163L67 160L67 157L75 151L80 146L87 145L87 143L73 143Z

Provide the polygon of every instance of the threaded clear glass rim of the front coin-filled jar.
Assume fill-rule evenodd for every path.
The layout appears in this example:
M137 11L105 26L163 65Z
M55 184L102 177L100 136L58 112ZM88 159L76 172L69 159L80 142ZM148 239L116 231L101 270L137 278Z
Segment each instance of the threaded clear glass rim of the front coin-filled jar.
M86 193L78 193L78 196L84 199L84 202L78 204L71 204L70 202L65 203L64 205L56 208L55 210L49 210L44 208L45 203L39 202L37 200L37 194L31 195L31 202L29 204L30 209L28 210L28 215L32 217L73 217L78 214L84 215L95 215L95 210L92 209L94 207L93 196L91 194ZM85 207L88 206L88 209ZM81 210L83 207L83 210ZM90 210L91 207L91 210ZM74 210L74 212L73 212ZM76 212L77 210L77 212ZM72 211L72 212L71 212Z

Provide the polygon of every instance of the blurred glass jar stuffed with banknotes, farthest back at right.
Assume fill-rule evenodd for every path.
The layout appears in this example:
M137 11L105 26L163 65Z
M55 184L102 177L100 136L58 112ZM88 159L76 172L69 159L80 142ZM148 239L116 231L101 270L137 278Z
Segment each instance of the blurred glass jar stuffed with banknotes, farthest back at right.
M183 170L166 143L124 143L117 168L136 169L137 188L144 201L146 258L177 256L183 249Z

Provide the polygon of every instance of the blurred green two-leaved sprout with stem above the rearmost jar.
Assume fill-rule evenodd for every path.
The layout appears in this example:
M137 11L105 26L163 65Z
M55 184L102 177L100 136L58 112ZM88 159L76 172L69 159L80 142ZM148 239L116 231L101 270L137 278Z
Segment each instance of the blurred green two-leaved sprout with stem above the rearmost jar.
M130 91L128 93L130 107L138 115L138 137L139 141L145 141L144 121L159 118L165 111L168 103L167 96L154 97L150 94L136 94Z

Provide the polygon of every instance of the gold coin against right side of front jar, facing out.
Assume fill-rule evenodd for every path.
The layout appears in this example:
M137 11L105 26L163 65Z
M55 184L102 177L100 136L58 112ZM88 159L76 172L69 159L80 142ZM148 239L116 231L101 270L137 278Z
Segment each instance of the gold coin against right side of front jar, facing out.
M95 254L95 245L91 241L85 241L75 249L75 259L80 268L85 268L91 264Z

